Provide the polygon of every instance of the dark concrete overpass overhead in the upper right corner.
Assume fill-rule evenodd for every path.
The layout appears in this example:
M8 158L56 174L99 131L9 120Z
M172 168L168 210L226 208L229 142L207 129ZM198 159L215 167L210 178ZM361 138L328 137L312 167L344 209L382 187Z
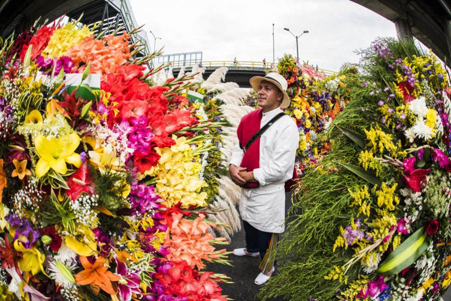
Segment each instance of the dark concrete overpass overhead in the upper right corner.
M415 37L451 66L451 0L351 0L395 24L398 38Z

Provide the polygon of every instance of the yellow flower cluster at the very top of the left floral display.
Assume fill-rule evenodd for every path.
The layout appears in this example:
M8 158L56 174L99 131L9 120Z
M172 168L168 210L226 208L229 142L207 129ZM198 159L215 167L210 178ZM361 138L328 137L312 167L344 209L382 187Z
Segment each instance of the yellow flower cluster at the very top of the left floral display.
M91 31L86 25L80 29L74 23L68 23L53 32L42 55L50 59L62 57L71 47L78 45L89 35Z

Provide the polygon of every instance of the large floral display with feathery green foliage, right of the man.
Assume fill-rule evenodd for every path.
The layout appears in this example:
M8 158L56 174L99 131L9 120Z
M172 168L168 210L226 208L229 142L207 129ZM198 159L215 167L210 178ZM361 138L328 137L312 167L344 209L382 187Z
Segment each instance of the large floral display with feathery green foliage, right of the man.
M412 42L380 40L307 171L262 291L291 300L436 300L451 283L447 74Z

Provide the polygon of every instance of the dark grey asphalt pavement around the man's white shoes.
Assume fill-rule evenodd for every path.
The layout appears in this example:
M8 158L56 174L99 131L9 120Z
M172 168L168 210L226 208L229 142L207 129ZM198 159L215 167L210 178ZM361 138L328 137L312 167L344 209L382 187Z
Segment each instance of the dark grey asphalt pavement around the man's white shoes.
M286 197L285 208L288 209L291 205L290 198ZM227 245L228 251L233 251L235 248L242 248L246 246L244 230L235 233L232 237L232 242ZM260 263L260 257L250 256L235 256L230 255L230 259L233 260L234 266L228 266L225 264L213 263L208 264L205 268L206 271L213 271L215 273L224 273L232 278L233 284L221 283L222 294L229 295L230 298L236 301L259 301L260 298L256 297L260 286L254 283L255 278L260 273L258 265ZM276 270L277 272L277 270ZM289 301L282 298L272 299L271 301ZM307 300L306 300L307 301ZM443 301L451 301L451 289L443 296Z

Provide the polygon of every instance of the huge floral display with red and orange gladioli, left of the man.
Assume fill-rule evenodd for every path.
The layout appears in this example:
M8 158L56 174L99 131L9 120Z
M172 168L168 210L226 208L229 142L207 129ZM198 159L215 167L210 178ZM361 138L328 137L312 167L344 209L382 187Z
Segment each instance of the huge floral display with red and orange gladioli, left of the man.
M193 76L153 84L133 34L70 22L0 41L3 300L226 299L203 270L227 263L202 161L220 123L182 94Z

